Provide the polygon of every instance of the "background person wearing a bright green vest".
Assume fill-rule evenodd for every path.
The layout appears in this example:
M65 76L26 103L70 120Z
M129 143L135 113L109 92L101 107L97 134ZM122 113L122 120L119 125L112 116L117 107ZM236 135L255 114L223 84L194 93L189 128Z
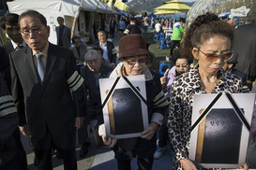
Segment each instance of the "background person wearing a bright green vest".
M185 19L180 18L179 21L175 22L173 25L173 35L170 54L173 55L173 50L177 46L179 47L182 35L185 29Z

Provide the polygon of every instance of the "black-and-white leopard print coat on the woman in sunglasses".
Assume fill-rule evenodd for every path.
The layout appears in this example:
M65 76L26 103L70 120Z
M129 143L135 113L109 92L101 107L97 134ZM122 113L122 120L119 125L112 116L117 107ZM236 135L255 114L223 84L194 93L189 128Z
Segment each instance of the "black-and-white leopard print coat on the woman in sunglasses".
M168 118L168 131L175 151L173 169L182 169L178 162L188 158L191 114L194 94L206 93L203 91L199 65L191 68L188 73L177 77L173 81L170 96L170 108ZM235 75L219 71L220 78L212 93L219 91L229 91L233 93L242 92L242 81Z

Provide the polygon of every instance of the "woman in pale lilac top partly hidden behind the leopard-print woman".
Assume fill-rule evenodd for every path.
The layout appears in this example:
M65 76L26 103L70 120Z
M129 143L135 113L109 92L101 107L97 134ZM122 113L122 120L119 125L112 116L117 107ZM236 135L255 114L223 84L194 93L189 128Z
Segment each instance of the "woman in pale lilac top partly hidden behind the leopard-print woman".
M172 60L174 63L174 66L171 69L167 69L164 73L164 76L160 78L161 85L163 92L165 93L165 98L169 100L171 88L173 85L173 80L176 77L179 77L183 73L187 73L189 70L189 60L188 57L181 57L179 54L179 50L176 50L173 53ZM164 150L167 146L167 140L168 140L168 128L167 128L167 116L166 114L163 124L158 130L158 148L154 154L155 159L161 158Z

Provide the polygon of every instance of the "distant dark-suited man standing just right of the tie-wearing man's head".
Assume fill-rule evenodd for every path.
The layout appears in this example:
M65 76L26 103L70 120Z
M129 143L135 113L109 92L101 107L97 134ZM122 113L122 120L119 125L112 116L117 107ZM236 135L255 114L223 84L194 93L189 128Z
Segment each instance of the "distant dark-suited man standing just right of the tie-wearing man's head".
M59 23L59 26L56 27L57 45L69 49L71 46L71 30L64 25L64 18L58 17L57 21Z

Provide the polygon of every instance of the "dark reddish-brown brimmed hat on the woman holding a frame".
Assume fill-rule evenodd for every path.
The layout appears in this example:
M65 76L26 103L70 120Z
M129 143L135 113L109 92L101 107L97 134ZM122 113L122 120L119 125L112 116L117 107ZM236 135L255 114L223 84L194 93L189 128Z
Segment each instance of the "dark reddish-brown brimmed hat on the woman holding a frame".
M150 54L142 35L125 35L119 41L119 57L132 57Z

